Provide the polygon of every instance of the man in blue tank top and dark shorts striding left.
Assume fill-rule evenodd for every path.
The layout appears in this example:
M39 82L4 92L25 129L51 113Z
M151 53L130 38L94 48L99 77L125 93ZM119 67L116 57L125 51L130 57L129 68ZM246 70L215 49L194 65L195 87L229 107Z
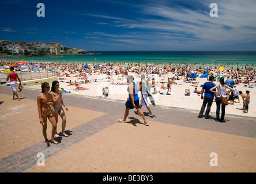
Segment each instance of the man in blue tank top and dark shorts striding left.
M118 119L118 122L125 122L128 114L129 114L129 110L133 109L133 108L136 108L138 113L141 114L141 117L144 120L143 124L148 126L148 121L146 121L144 113L140 109L140 100L138 98L138 89L137 89L137 86L136 86L135 82L133 82L133 80L134 80L133 75L129 75L128 80L129 80L128 81L129 86L127 88L127 91L129 91L129 99L125 103L125 106L126 106L125 116L123 117L123 119Z

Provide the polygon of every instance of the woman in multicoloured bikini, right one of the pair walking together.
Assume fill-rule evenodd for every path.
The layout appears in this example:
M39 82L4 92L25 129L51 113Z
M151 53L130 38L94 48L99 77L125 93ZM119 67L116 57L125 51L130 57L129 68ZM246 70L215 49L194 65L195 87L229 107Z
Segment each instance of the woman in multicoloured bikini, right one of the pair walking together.
M54 102L54 109L55 109L55 119L56 119L56 124L58 123L58 116L61 116L61 119L62 119L62 132L61 132L61 135L62 136L65 136L65 137L68 137L69 135L67 135L65 133L65 128L66 128L66 114L62 108L62 105L65 107L66 110L67 107L65 106L65 104L63 103L63 100L62 100L62 90L58 90L59 89L59 82L58 81L53 81L52 82L52 86L51 86L51 98L52 98L52 101ZM55 137L59 137L58 133L57 133L57 129L56 129L56 132L55 132Z

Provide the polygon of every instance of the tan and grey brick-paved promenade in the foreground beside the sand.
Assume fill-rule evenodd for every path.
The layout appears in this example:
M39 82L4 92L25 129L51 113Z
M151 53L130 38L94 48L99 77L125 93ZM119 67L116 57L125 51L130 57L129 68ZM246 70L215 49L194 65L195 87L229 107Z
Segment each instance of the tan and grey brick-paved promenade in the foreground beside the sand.
M220 123L198 118L198 109L152 106L156 117L147 118L146 127L133 110L126 123L116 121L123 117L125 101L64 94L70 136L47 147L37 112L39 93L24 89L18 93L21 101L13 101L10 87L0 86L1 172L256 171L256 118L227 114ZM50 139L50 121L47 135ZM44 166L37 166L39 153Z

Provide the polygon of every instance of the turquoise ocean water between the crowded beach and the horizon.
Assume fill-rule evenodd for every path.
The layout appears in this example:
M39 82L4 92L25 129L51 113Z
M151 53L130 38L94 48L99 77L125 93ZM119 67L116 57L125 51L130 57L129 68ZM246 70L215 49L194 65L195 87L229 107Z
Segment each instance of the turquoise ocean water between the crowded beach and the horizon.
M89 52L89 51L88 51ZM256 51L91 51L97 55L5 57L0 60L62 63L256 64ZM214 60L214 61L213 61Z

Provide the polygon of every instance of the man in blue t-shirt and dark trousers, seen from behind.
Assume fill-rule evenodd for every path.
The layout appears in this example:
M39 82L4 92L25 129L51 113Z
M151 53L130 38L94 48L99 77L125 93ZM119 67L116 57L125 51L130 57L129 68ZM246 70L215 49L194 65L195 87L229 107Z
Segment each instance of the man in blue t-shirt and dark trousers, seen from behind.
M205 118L209 119L209 113L210 113L210 107L212 106L212 102L213 102L213 98L214 98L214 93L210 92L210 89L214 86L216 86L214 83L214 76L209 76L209 80L208 82L205 82L204 85L202 86L202 90L201 90L201 99L204 99L201 110L199 112L198 117L204 117L204 111L205 111L205 107L207 104L207 108L205 111ZM216 90L216 89L214 89ZM204 94L204 97L202 94Z

